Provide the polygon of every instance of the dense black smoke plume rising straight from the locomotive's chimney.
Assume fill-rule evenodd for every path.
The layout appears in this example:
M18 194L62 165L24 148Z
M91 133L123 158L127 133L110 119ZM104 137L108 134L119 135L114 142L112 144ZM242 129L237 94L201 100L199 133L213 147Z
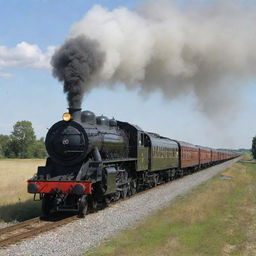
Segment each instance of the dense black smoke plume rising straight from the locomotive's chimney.
M99 44L86 36L68 39L53 55L53 75L64 83L70 108L80 108L84 92L100 71L105 55Z

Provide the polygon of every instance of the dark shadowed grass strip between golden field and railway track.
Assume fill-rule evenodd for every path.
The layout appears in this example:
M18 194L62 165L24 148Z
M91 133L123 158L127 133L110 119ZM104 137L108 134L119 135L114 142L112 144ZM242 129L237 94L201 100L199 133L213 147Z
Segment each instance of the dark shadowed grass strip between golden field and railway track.
M29 199L25 202L17 202L0 206L0 221L24 221L39 216L41 202Z

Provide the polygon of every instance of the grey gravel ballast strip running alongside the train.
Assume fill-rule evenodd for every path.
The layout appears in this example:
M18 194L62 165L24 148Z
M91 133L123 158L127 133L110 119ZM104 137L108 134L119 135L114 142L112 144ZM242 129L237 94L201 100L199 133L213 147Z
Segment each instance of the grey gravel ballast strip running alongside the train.
M237 159L233 159L148 190L146 193L137 194L104 210L89 214L85 219L2 249L0 255L84 255L86 250L97 245L102 239L136 225L144 217L167 205L176 196L205 182L236 161Z

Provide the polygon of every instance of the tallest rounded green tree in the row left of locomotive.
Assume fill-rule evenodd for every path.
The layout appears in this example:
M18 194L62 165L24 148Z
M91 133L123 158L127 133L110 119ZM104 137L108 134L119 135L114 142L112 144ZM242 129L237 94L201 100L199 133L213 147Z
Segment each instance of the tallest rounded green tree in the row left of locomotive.
M10 138L9 149L15 157L33 157L31 147L36 142L36 136L31 122L17 122L13 126L13 132Z

